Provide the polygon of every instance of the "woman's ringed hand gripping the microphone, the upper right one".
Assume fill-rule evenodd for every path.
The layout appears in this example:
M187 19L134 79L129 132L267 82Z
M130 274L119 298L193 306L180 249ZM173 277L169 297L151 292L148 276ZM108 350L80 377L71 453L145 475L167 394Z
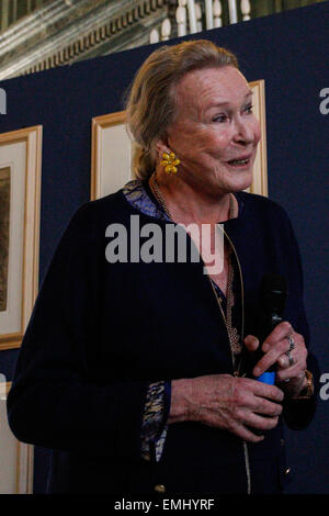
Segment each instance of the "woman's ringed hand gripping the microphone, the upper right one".
M290 351L291 341L294 343L294 348ZM245 345L249 351L256 351L259 340L253 335L248 335ZM290 323L284 322L273 329L261 349L264 356L253 368L253 375L259 377L271 366L276 364L276 383L280 389L290 396L298 395L306 384L307 349L303 336L294 332ZM291 358L286 355L287 351Z

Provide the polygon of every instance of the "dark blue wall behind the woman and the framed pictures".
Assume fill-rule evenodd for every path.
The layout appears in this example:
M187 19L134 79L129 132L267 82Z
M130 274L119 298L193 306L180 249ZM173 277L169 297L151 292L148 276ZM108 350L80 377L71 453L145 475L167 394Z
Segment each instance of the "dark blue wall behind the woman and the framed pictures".
M329 2L197 34L235 52L249 81L265 80L270 197L288 212L300 245L311 347L329 372L328 142ZM174 44L175 41L169 42ZM89 200L91 119L123 109L122 94L155 46L2 81L0 132L42 124L39 278L72 213ZM18 351L0 354L10 380ZM319 397L311 426L286 431L292 493L329 493L329 401ZM36 450L35 492L45 484L46 450Z

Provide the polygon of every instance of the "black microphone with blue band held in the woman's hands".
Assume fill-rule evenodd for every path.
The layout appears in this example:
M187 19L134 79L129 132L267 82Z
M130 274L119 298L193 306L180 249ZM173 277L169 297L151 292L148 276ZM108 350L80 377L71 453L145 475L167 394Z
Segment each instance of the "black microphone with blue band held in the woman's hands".
M260 349L265 338L283 321L283 313L287 298L286 281L280 274L265 274L261 281L261 313L257 337L260 341L256 351L256 362L263 356ZM273 364L268 371L263 372L257 380L263 383L274 385L275 383L275 366Z

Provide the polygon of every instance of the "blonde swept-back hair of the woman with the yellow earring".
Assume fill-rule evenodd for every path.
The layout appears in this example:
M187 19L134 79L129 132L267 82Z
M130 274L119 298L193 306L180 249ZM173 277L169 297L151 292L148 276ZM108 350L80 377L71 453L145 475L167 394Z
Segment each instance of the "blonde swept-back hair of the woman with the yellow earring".
M177 113L175 86L192 70L234 66L238 61L226 48L206 40L161 46L145 60L128 90L127 131L137 143L135 175L148 179L156 165L154 143L164 136Z

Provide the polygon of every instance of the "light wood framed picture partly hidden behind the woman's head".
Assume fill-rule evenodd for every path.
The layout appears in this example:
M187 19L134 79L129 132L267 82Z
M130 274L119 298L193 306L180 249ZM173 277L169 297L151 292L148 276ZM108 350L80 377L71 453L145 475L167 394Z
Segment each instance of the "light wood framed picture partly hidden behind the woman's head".
M253 91L253 111L261 124L261 141L253 167L253 181L247 190L268 195L265 87L264 80L249 83ZM121 189L134 179L134 162L138 147L126 132L125 111L92 119L91 200Z

